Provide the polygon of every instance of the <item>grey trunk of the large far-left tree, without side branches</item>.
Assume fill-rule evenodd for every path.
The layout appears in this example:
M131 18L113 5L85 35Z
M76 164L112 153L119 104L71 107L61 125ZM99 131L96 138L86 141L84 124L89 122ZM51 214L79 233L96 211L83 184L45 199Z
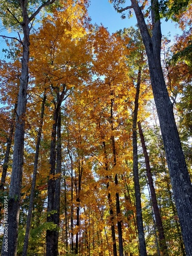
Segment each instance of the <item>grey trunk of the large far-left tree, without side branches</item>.
M18 102L16 111L16 127L14 136L14 151L13 151L13 167L11 174L11 183L9 188L8 200L8 240L4 236L3 244L9 241L8 249L2 246L2 256L16 255L17 237L18 237L18 221L20 207L20 191L22 189L22 174L24 162L24 137L25 137L25 114L27 104L27 89L28 89L28 63L29 63L29 45L30 45L30 28L29 17L27 14L26 1L20 3L20 8L23 11L23 56L22 56L22 71L19 83ZM5 234L5 233L4 233Z

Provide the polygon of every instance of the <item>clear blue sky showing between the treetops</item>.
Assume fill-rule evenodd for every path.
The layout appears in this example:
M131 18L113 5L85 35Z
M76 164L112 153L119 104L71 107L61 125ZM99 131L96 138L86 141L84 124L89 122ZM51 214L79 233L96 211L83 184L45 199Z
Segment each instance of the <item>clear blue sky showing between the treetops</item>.
M110 4L108 0L91 0L88 11L92 18L92 23L98 25L102 24L104 27L108 28L110 33L116 32L119 29L135 26L137 23L135 15L130 19L121 19L121 14L114 10L113 5ZM161 29L163 35L167 35L171 32L172 38L174 35L181 33L180 29L175 27L175 23L170 21L162 22Z

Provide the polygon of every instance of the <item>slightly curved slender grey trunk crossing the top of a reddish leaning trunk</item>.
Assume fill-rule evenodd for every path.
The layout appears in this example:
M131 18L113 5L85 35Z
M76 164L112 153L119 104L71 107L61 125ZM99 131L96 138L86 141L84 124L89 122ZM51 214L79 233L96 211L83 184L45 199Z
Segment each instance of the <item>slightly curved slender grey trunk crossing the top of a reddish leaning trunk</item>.
M137 216L137 229L139 237L139 252L140 255L145 256L146 245L143 229L143 218L141 210L141 193L139 185L139 173L138 173L138 152L137 152L137 115L139 108L139 91L141 82L141 69L138 72L137 88L135 95L135 108L133 112L133 174L134 174L134 187L135 187L135 200L136 200L136 216Z

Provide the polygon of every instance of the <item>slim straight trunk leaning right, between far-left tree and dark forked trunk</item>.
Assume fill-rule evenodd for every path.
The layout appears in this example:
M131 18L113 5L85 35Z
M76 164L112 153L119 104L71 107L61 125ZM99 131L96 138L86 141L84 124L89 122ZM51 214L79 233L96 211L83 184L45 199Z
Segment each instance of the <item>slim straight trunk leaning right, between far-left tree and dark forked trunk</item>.
M39 147L40 147L40 140L41 140L42 124L43 124L43 119L44 119L45 103L46 103L46 95L44 95L44 99L43 99L42 105L41 105L40 125L39 125L39 129L38 129L38 134L37 134L37 143L36 143L36 150L35 150L35 159L34 159L31 194L30 194L30 201L29 201L29 210L28 210L28 216L27 216L25 240L24 240L24 247L23 247L23 253L22 253L23 256L27 255L27 249L28 249L28 243L29 243L29 233L30 233L31 218L32 218L32 212L33 212L33 201L34 201L34 194L35 194Z

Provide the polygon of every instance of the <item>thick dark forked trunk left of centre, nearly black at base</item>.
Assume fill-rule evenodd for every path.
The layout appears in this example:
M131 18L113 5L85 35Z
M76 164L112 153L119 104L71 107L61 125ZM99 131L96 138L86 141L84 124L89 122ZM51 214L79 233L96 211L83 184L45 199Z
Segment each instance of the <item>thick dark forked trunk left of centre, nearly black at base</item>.
M55 109L53 113L53 120L54 123L52 125L52 133L51 133L51 145L50 145L50 175L51 179L48 180L48 215L47 215L47 222L52 222L56 225L54 229L47 229L46 232L46 253L50 256L56 256L58 255L58 224L59 224L59 197L60 197L60 178L55 179L55 174L57 172L60 172L61 168L61 158L60 156L60 107L61 103L64 99L67 98L66 93L66 85L63 84L62 86L62 92L59 93L59 88L57 88L57 100L54 101ZM65 97L66 96L66 97ZM56 154L56 139L57 139L57 146L58 151ZM57 160L59 161L57 164L57 169L55 172L55 166L56 166L56 155ZM59 201L58 201L59 200Z

